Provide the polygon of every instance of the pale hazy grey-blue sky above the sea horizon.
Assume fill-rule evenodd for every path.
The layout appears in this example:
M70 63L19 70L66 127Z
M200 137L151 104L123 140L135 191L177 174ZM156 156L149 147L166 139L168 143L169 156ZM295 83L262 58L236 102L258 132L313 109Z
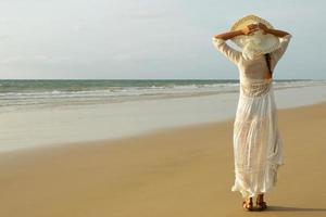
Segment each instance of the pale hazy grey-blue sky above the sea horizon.
M325 8L323 0L0 0L0 79L238 79L212 37L248 14L292 35L276 79L326 79Z

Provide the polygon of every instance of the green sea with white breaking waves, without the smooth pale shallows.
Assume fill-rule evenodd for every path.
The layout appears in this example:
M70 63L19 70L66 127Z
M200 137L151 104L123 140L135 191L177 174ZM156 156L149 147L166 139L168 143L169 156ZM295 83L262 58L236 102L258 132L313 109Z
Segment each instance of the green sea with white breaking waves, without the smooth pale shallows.
M276 89L326 84L325 80L274 82ZM0 80L0 113L237 91L238 80Z

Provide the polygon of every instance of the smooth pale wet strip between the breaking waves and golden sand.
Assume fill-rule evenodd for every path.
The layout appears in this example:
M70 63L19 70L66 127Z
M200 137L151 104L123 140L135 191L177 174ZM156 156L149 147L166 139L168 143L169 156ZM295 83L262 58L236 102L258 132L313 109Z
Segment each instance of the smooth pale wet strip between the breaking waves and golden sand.
M277 108L325 102L325 90L326 86L275 90ZM238 100L239 92L231 92L0 114L0 153L224 122L235 117Z

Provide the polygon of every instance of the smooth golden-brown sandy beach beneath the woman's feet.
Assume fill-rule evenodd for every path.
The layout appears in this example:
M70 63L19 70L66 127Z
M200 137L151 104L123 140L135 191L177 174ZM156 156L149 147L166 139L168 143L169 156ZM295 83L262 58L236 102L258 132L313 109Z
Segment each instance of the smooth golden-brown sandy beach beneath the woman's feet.
M234 182L233 119L0 154L3 217L326 216L326 103L279 110L285 162L268 210Z

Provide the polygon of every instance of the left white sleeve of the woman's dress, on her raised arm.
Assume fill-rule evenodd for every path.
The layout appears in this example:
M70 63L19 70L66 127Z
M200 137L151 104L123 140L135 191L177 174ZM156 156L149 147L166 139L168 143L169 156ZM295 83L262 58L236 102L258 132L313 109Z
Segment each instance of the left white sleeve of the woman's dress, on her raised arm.
M230 60L233 63L238 64L241 52L233 49L229 47L226 41L222 38L212 38L214 48L217 49L220 52L222 52L228 60Z

